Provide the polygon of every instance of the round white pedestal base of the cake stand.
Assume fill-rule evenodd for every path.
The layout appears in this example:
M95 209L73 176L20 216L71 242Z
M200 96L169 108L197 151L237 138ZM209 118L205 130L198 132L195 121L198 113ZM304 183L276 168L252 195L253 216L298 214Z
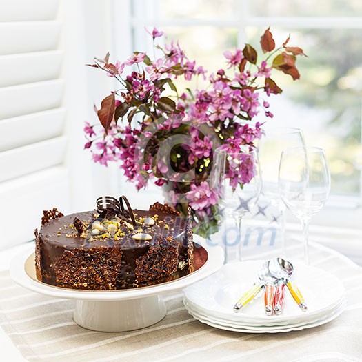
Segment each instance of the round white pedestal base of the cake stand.
M124 301L78 300L74 321L88 330L125 332L157 323L166 312L165 303L157 295Z

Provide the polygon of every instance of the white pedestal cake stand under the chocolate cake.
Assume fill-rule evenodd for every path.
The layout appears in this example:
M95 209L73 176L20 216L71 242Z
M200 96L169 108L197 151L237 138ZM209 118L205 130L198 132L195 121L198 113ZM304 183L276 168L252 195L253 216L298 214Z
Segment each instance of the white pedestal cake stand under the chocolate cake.
M223 250L219 246L207 245L205 239L197 235L194 241L202 245L203 254L205 251L208 254L201 268L180 279L144 288L72 290L41 283L35 272L34 247L12 260L10 275L16 283L33 292L75 299L74 321L83 328L100 332L137 330L157 323L165 316L167 310L160 294L181 290L217 272L223 265Z

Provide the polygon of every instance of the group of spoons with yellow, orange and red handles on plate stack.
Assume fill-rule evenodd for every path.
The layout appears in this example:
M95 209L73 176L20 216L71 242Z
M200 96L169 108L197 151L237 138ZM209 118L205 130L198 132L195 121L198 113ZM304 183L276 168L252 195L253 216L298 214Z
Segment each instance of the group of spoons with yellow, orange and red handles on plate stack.
M271 316L278 315L283 311L283 303L285 296L285 285L287 286L294 301L299 305L303 312L308 310L303 295L296 283L292 280L294 268L290 261L282 258L275 258L265 261L259 268L259 283L254 283L252 287L241 296L234 304L234 312L239 312L245 308L255 296L264 290L264 311L265 314Z

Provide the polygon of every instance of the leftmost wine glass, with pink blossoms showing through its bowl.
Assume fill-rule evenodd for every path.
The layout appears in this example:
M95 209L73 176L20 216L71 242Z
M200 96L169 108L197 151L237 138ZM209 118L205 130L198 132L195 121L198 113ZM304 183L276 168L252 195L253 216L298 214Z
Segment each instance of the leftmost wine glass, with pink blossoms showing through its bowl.
M241 220L256 205L261 193L257 148L237 152L217 148L214 152L211 185L217 190L223 214L234 219L241 235ZM228 263L226 248L225 259ZM236 259L241 261L241 240L237 245Z

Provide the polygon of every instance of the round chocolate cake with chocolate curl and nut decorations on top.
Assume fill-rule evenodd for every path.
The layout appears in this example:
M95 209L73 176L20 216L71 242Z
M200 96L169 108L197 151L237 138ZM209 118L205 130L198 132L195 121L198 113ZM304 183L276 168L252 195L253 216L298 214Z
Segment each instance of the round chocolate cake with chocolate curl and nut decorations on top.
M125 197L102 197L94 211L54 208L43 212L35 243L37 278L63 288L137 288L193 271L191 218L167 204L132 210Z

